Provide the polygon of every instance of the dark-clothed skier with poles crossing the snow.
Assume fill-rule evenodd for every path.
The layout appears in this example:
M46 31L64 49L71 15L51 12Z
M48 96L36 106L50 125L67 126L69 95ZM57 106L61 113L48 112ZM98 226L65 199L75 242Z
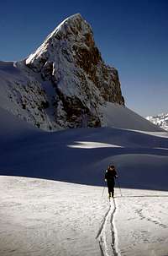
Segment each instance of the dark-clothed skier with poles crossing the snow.
M114 185L115 181L114 178L117 178L117 172L115 170L115 166L108 166L108 170L106 170L105 173L105 182L108 182L108 193L109 193L109 199L114 195Z

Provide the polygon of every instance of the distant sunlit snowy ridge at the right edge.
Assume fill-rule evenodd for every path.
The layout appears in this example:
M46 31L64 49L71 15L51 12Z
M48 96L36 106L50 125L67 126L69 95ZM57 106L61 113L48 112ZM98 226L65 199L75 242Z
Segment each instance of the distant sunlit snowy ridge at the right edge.
M168 131L168 113L162 113L153 117L146 117L146 119L151 123L155 123L155 125L158 125L160 128Z

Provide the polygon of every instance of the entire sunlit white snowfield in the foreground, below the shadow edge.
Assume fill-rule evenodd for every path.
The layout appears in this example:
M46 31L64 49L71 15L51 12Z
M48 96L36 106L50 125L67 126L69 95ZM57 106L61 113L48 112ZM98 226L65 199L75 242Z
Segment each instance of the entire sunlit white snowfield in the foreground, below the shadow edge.
M26 177L0 182L0 255L168 254L166 192L122 188L121 197L116 188L109 203L102 187Z

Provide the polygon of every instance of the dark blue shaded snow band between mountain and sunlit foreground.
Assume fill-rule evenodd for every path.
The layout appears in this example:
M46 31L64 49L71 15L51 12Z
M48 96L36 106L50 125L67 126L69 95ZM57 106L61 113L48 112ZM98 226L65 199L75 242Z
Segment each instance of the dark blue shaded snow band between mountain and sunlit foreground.
M10 123L11 116L7 117ZM8 131L8 123L6 121L7 128L0 129L2 138L7 138L3 131ZM141 133L123 128L78 128L55 133L33 129L29 137L24 138L19 129L19 134L14 137L10 128L8 143L2 139L0 173L3 175L100 185L103 184L103 170L114 161L123 187L168 188L167 180L162 178L168 166L167 133ZM142 172L145 172L145 177Z

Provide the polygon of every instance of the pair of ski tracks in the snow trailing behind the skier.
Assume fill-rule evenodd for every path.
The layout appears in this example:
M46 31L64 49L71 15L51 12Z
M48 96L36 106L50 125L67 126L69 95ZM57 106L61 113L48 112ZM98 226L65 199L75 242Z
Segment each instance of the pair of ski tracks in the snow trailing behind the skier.
M111 256L112 253L114 256L120 256L119 250L118 250L118 238L117 238L117 229L114 225L114 215L117 210L115 200L113 199L113 203L109 202L109 208L106 214L104 215L104 218L102 220L102 225L97 233L97 239L99 241L100 249L102 252L102 256ZM111 248L108 244L108 237L107 237L107 230L108 225L110 225L111 229Z

